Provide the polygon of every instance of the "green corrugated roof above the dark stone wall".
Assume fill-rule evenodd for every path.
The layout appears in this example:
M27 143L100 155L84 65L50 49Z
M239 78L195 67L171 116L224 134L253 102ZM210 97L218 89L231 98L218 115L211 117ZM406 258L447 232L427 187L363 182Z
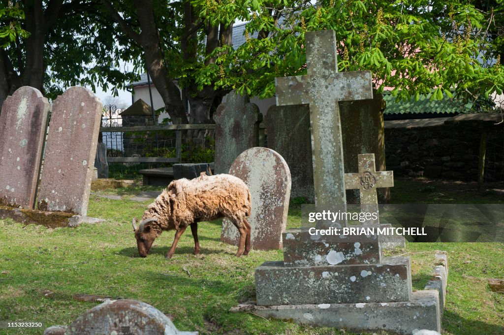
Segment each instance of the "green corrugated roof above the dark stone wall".
M453 93L453 98L447 95L441 100L430 100L432 94L426 96L420 95L420 99L415 101L411 97L409 101L399 100L396 102L396 97L390 91L382 92L384 100L387 102L385 115L400 115L400 114L461 114L467 113L473 103L465 103L462 99L457 99L457 93Z

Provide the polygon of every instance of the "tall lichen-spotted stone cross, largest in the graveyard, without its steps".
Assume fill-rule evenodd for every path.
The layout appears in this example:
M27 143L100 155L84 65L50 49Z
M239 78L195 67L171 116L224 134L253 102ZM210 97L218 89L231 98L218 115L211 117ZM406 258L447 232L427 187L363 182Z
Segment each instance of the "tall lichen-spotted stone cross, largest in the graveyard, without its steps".
M370 71L338 73L333 30L306 32L305 76L276 78L277 105L309 104L315 203L346 209L338 101L372 99Z

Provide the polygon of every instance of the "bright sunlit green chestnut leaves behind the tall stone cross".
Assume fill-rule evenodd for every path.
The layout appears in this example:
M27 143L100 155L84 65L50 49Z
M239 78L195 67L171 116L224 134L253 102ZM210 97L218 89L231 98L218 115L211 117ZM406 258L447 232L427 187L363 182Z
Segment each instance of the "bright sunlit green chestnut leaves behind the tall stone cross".
M213 1L213 0L211 0ZM221 0L234 2L234 0ZM501 3L501 0L498 0ZM274 78L303 75L306 31L333 29L339 71L371 70L375 88L393 88L400 98L433 90L432 97L469 98L501 93L504 72L492 42L497 12L470 1L435 0L251 0L246 43L216 48L216 63L202 69L200 85L237 88L252 95L275 94ZM211 8L209 7L209 10ZM225 15L213 10L214 17ZM489 30L496 34L490 36ZM492 31L493 31L492 30ZM253 36L257 36L253 38Z

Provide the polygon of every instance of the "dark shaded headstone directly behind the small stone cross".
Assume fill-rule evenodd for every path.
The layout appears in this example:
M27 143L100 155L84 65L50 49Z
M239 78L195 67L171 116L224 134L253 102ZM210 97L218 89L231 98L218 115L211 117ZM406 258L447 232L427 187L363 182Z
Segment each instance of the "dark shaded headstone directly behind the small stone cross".
M376 170L385 171L385 128L383 113L386 102L382 94L373 90L371 100L341 101L341 132L345 173L358 171L357 155L374 153ZM378 190L379 202L390 201L389 188ZM347 203L359 203L359 193L346 192Z

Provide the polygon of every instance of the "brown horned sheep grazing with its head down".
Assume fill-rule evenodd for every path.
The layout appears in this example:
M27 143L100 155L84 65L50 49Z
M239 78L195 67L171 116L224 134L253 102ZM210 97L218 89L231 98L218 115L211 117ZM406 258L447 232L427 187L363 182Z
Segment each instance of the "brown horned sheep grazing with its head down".
M162 231L176 230L175 239L166 258L175 253L178 239L191 226L194 237L194 254L200 252L198 222L227 217L240 233L236 257L250 251L250 225L245 216L250 216L250 191L243 181L231 175L207 176L204 172L193 180L174 180L168 188L149 205L140 226L133 229L137 239L138 253L147 257L154 240Z

